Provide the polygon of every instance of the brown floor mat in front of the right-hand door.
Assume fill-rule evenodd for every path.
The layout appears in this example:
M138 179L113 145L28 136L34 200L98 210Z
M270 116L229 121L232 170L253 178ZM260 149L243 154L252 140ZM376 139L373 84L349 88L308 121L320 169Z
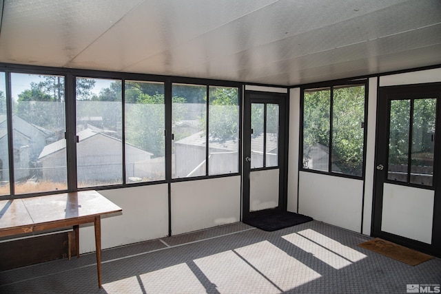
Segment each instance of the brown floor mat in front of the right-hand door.
M417 264L426 262L427 260L431 260L433 258L431 255L427 255L387 240L382 240L380 238L375 238L373 240L360 243L358 246L369 249L370 251L376 253L380 253L384 256L393 258L394 260L398 260L411 266L416 266Z

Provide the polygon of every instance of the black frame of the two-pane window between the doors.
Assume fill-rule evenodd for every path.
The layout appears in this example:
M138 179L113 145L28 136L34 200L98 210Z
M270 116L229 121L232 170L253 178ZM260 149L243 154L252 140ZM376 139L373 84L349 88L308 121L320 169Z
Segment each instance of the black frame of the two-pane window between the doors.
M343 174L338 173L336 171L332 171L332 153L333 153L333 114L334 114L334 89L339 89L342 87L355 87L357 85L363 85L365 87L365 107L364 107L364 120L363 120L363 151L362 151L362 175L355 176L351 174ZM320 171L317 169L307 169L303 167L303 131L304 131L304 110L305 110L305 91L307 90L320 90L329 88L330 96L329 96L329 158L328 158L328 170ZM306 171L314 174L323 174L329 176L338 176L341 178L353 178L357 180L365 180L366 176L366 148L367 148L367 110L369 105L369 79L362 78L359 80L353 81L336 81L336 82L326 82L326 83L316 83L316 84L308 84L302 85L300 87L300 129L299 129L299 153L298 153L298 170Z

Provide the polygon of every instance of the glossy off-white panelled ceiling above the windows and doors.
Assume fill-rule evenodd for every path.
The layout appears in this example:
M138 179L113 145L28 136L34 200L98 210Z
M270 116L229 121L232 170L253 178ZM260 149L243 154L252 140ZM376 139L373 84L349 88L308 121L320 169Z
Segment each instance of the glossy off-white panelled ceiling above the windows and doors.
M2 2L2 63L285 86L441 64L440 0Z

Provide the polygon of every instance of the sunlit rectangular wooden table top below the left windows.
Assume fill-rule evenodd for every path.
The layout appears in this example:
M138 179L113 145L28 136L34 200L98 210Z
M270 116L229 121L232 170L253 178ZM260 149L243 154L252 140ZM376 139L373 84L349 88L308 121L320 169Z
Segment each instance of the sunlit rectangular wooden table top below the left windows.
M0 200L0 231L122 211L97 191Z

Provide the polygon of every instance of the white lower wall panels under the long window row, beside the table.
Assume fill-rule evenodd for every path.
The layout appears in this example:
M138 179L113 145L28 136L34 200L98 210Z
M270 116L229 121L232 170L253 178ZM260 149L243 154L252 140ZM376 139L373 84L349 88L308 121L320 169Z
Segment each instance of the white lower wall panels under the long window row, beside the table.
M101 247L168 235L167 184L99 191L123 209L101 219ZM172 183L172 235L240 221L240 176ZM80 253L95 251L93 224L80 227Z

